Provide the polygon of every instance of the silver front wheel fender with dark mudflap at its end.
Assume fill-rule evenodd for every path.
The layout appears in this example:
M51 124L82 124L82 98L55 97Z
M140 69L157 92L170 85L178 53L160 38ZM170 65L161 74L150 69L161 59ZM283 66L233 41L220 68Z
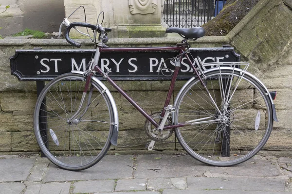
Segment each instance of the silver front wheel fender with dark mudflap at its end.
M75 73L75 74L80 74L80 75L84 74L83 71L71 71L71 72ZM115 103L115 101L110 93L110 90L107 88L107 86L105 86L105 84L103 84L103 82L101 82L100 80L98 80L95 77L91 77L91 79L102 87L102 90L108 95L108 97L110 99L110 103L111 103L111 107L112 107L112 111L113 111L113 119L114 119L113 133L112 133L112 136L110 138L110 143L114 146L117 146L118 145L118 142L117 142L118 141L118 131L119 131L119 116L118 116L118 109L117 109L116 103Z

